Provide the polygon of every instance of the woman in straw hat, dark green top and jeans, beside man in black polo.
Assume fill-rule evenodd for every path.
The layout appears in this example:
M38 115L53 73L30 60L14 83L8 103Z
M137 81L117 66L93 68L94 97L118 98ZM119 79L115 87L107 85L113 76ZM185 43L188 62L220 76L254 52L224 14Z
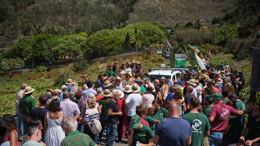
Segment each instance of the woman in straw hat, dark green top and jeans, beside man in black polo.
M98 104L100 106L102 106L101 108L101 114L100 114L100 123L101 123L101 131L99 133L99 137L98 137L98 145L100 145L101 143L101 138L103 135L103 131L105 128L105 124L106 124L106 143L108 142L108 136L109 136L109 123L108 123L108 103L110 102L111 98L110 96L112 96L112 92L110 93L106 93L106 91L102 92L102 95L104 96L102 99L99 99Z

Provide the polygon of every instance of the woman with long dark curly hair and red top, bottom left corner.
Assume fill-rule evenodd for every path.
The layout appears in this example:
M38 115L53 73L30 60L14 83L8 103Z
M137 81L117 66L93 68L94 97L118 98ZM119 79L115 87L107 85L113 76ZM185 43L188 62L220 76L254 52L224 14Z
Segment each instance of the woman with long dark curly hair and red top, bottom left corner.
M11 114L5 114L3 116L3 127L6 127L7 131L4 134L3 143L8 143L10 146L19 146L18 143L18 125L14 116Z

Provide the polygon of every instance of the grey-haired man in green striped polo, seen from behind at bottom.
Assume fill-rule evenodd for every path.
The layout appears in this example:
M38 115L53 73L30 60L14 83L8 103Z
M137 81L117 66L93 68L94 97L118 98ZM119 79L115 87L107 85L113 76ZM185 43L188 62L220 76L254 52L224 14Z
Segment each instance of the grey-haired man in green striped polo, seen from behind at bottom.
M97 146L97 144L84 133L77 130L78 122L76 119L69 117L64 120L63 129L67 136L61 141L61 146Z

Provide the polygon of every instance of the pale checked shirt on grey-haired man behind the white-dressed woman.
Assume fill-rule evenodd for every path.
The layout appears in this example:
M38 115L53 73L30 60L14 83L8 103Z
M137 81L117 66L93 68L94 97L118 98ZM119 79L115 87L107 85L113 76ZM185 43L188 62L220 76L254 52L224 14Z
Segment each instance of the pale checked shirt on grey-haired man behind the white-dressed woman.
M64 99L61 101L60 107L66 118L80 114L78 105L75 102L70 101L70 99Z

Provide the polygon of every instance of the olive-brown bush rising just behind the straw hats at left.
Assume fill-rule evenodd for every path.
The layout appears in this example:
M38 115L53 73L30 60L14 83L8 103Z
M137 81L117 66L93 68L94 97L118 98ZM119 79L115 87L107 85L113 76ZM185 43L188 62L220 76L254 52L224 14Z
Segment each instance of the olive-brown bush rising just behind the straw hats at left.
M62 86L68 78L72 78L73 72L70 68L60 68L58 75L55 77L54 86Z

